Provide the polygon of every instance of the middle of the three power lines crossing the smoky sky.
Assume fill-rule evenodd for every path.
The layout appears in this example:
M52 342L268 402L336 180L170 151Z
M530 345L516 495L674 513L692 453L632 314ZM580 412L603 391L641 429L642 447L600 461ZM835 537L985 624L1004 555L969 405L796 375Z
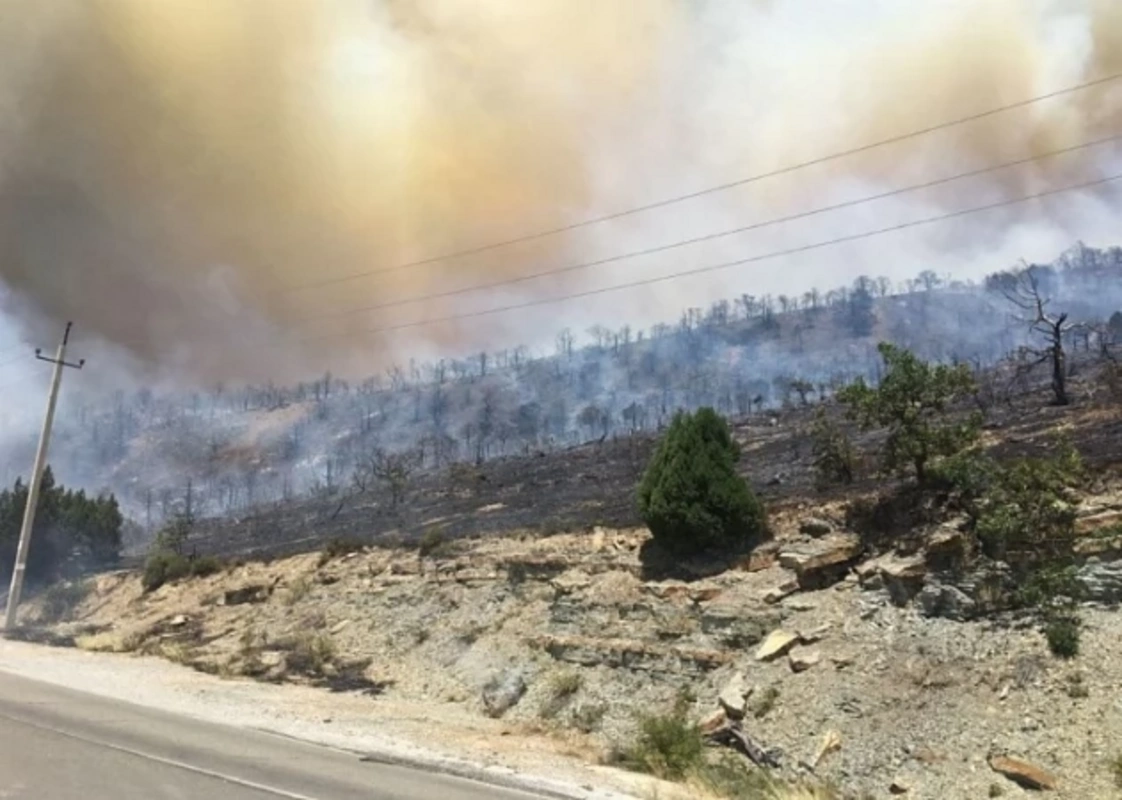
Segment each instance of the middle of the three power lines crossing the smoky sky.
M304 318L303 320L298 320L295 324L296 324L296 327L301 327L301 325L309 324L309 323L312 323L312 322L321 322L321 321L327 321L327 320L340 319L340 318L344 318L344 316L352 316L355 314L369 313L369 312L374 312L374 311L384 311L386 309L394 309L394 307L402 306L402 305L411 305L413 303L422 303L422 302L432 301L432 300L443 300L443 298L447 298L447 297L456 297L456 296L463 295L463 294L470 294L472 292L482 292L482 291L486 291L486 289L502 288L502 287L505 287L505 286L513 286L513 285L516 285L516 284L527 283L530 281L536 281L536 279L543 278L543 277L551 277L551 276L554 276L554 275L562 275L562 274L567 274L567 273L573 273L573 272L578 272L578 270L581 270L581 269L590 269L592 267L599 267L599 266L604 266L605 264L613 264L613 263L616 263L616 261L622 261L622 260L626 260L626 259L631 259L631 258L638 258L638 257L642 257L642 256L652 256L652 255L655 255L655 254L659 254L659 252L666 252L669 250L675 250L675 249L679 249L679 248L682 248L682 247L688 247L690 245L698 245L698 243L706 242L706 241L712 241L712 240L716 240L716 239L723 239L723 238L726 238L726 237L729 237L729 236L735 236L737 233L746 233L748 231L758 230L761 228L766 228L766 227L770 227L770 226L782 224L782 223L785 223L785 222L794 222L797 220L807 219L807 218L810 218L810 217L817 217L819 214L824 214L824 213L831 212L831 211L840 211L843 209L854 208L854 206L862 205L862 204L865 204L865 203L872 203L872 202L875 202L875 201L879 201L879 200L886 200L889 197L899 196L901 194L907 194L909 192L918 192L918 191L922 191L925 188L934 188L935 186L940 186L940 185L944 185L944 184L947 184L947 183L953 183L955 181L962 181L962 180L969 178L969 177L977 177L980 175L985 175L985 174L997 172L997 171L1001 171L1001 169L1009 169L1009 168L1015 167L1015 166L1023 166L1024 164L1030 164L1032 162L1039 162L1039 160L1043 160L1046 158L1054 158L1054 157L1059 156L1059 155L1064 155L1064 154L1068 154L1068 153L1074 153L1074 151L1082 150L1082 149L1087 149L1087 148L1091 148L1091 147L1096 147L1098 145L1105 145L1105 144L1109 144L1109 142L1112 142L1112 141L1118 141L1119 139L1122 139L1122 134L1114 134L1113 136L1107 136L1107 137L1104 137L1104 138L1101 138L1101 139L1094 139L1094 140L1091 140L1091 141L1085 141L1085 142L1079 144L1079 145L1073 145L1070 147L1064 147L1064 148L1060 148L1060 149L1057 149L1057 150L1051 150L1049 153L1040 154L1038 156L1029 156L1027 158L1019 158L1017 160L1005 162L1003 164L997 164L997 165L994 165L994 166L982 167L982 168L978 168L978 169L971 169L968 172L958 173L957 175L950 175L950 176L947 176L947 177L940 177L940 178L937 178L937 180L934 180L934 181L927 181L925 183L913 184L911 186L904 186L904 187L901 187L901 188L894 188L894 190L890 190L890 191L886 191L886 192L881 192L879 194L867 195L867 196L864 196L864 197L856 197L854 200L847 200L847 201L844 201L844 202L840 202L840 203L834 203L831 205L824 205L824 206L819 206L817 209L812 209L810 211L803 211L803 212L799 212L799 213L794 213L794 214L788 214L785 217L776 217L776 218L773 218L773 219L770 219L770 220L763 220L763 221L760 221L760 222L753 222L751 224L741 226L738 228L732 228L732 229L728 229L728 230L717 231L717 232L714 232L714 233L705 233L705 235L697 236L697 237L693 237L693 238L690 238L690 239L682 239L682 240L669 242L666 245L657 245L657 246L654 246L654 247L644 248L642 250L632 250L632 251L618 254L618 255L615 255L615 256L608 256L608 257L605 257L605 258L599 258L599 259L596 259L596 260L592 260L592 261L581 261L581 263L578 263L578 264L570 264L570 265L562 266L562 267L553 267L553 268L550 268L550 269L541 269L541 270L537 270L537 272L534 272L534 273L528 273L526 275L519 275L519 276L514 277L514 278L504 278L502 281L493 281L490 283L477 284L475 286L465 286L462 288L445 289L443 292L434 292L432 294L413 295L411 297L403 297L403 298L399 298L399 300L386 301L386 302L383 302L383 303L376 303L374 305L366 305L366 306L361 306L361 307L358 307L358 309L348 309L348 310L341 311L341 312L337 311L337 312L330 312L330 313L327 313L327 314L319 314L319 315L315 315L315 316L307 316L307 318Z

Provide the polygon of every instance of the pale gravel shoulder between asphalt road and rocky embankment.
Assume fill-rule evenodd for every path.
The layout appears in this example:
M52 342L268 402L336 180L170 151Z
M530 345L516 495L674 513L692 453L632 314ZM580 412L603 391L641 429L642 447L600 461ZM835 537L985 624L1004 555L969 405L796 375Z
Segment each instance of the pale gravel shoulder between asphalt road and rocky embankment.
M298 686L227 680L162 659L55 649L0 640L0 670L197 719L265 730L361 754L374 761L470 778L546 797L627 800L665 785L641 775L582 764L533 746L525 737L509 747L480 730L440 733L436 709L333 695ZM488 727L485 724L480 727ZM498 738L502 730L496 732ZM416 744L424 741L426 745ZM457 755L447 747L454 743ZM443 746L442 746L443 745Z

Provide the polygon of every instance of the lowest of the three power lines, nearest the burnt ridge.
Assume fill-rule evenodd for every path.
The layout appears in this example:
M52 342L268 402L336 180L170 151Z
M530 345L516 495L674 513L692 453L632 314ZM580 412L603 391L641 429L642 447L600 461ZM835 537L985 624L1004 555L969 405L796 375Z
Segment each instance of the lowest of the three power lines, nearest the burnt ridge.
M813 242L811 245L802 245L800 247L788 248L788 249L784 249L784 250L775 250L775 251L762 254L762 255L758 255L758 256L749 256L747 258L738 258L738 259L733 260L733 261L723 261L720 264L712 264L712 265L708 265L708 266L705 266L705 267L697 267L695 269L687 269L687 270L682 270L682 272L670 273L669 275L660 275L657 277L643 278L641 281L631 281L631 282L623 283L623 284L615 284L613 286L604 286L604 287L595 288L595 289L586 289L586 291L582 291L582 292L576 292L573 294L565 294L565 295L560 295L560 296L554 296L554 297L539 297L539 298L535 298L535 300L524 301L524 302L521 302L521 303L513 303L513 304L509 304L509 305L496 306L494 309L484 309L481 311L466 312L466 313L462 313L462 314L448 314L445 316L431 318L431 319L426 319L426 320L415 320L413 322L403 322L403 323L399 323L399 324L387 325L387 327L384 327L384 328L371 328L371 329L368 329L368 330L365 330L365 331L359 331L358 333L337 332L337 333L329 333L329 334L319 335L319 337L310 337L310 338L305 338L305 339L289 340L288 342L286 342L286 344L314 342L314 341L321 341L321 340L325 340L325 339L335 339L335 338L339 338L339 337L371 335L371 334L375 334L375 333L388 333L388 332L392 332L392 331L399 331L399 330L405 330L405 329L408 329L408 328L421 328L421 327L424 327L424 325L434 325L434 324L440 324L440 323L444 323L444 322L454 322L454 321L458 321L458 320L467 320L467 319L473 319L473 318L479 318L479 316L489 316L491 314L502 314L502 313L509 312L509 311L519 311L519 310L523 310L523 309L531 309L531 307L541 306L541 305L551 305L551 304L554 304L554 303L564 303L564 302L568 302L568 301L571 301L571 300L579 300L579 298L583 298L583 297L591 297L591 296L595 296L595 295L609 294L611 292L622 292L624 289L637 288L640 286L650 286L650 285L653 285L653 284L665 283L665 282L669 282L669 281L677 281L679 278L690 277L690 276L693 276L693 275L701 275L703 273L711 273L711 272L718 272L718 270L721 270L721 269L729 269L732 267L738 267L738 266L743 266L743 265L746 265L746 264L755 264L755 263L758 263L758 261L764 261L764 260L769 260L769 259L773 259L773 258L780 258L782 256L791 256L791 255L797 255L797 254L800 254L800 252L808 252L808 251L818 250L818 249L821 249L821 248L825 248L825 247L831 247L834 245L844 245L844 243L850 242L850 241L858 241L858 240L862 240L862 239L870 239L870 238L873 238L873 237L876 237L876 236L883 236L884 233L892 233L892 232L895 232L895 231L907 230L909 228L918 228L920 226L932 224L935 222L944 222L946 220L951 220L951 219L957 219L957 218L962 218L962 217L967 217L969 214L982 213L982 212L985 212L985 211L993 211L993 210L996 210L996 209L1006 208L1006 206L1011 206L1011 205L1017 205L1019 203L1027 203L1027 202L1032 201L1032 200L1040 200L1042 197L1049 197L1049 196L1054 196L1054 195L1058 195L1058 194L1064 194L1064 193L1067 193L1067 192L1076 192L1076 191L1079 191L1079 190L1083 190L1083 188L1092 188L1092 187L1095 187L1095 186L1102 186L1102 185L1105 185L1105 184L1119 181L1120 178L1122 178L1122 173L1119 173L1119 174L1115 174L1115 175L1110 175L1110 176L1103 177L1103 178L1097 178L1095 181L1087 181L1085 183L1073 184L1073 185L1069 185L1069 186L1063 186L1060 188L1052 188L1052 190L1047 190L1047 191L1043 191L1043 192L1037 192L1034 194L1029 194L1029 195L1026 195L1026 196L1022 196L1022 197L1017 197L1014 200L1003 200L1003 201L1000 201L1000 202L996 202L996 203L988 203L986 205L978 205L978 206L974 206L974 208L971 208L971 209L962 209L959 211L953 211L953 212L945 213L945 214L938 214L936 217L927 217L927 218L923 218L923 219L920 219L920 220L912 220L910 222L902 222L902 223L894 224L894 226L888 226L885 228L877 228L877 229L871 230L871 231L863 231L861 233L853 233L853 235L849 235L849 236L837 237L837 238L834 238L834 239L828 239L826 241Z

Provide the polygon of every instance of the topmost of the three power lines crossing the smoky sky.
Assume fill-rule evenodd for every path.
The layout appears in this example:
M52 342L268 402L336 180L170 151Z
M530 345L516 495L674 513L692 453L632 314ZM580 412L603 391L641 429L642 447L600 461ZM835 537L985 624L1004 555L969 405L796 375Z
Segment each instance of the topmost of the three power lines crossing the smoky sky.
M426 266L430 264L435 264L438 261L445 261L452 258L462 258L465 256L473 256L480 252L487 252L489 250L498 250L504 247L511 247L512 245L519 245L527 241L534 241L536 239L544 239L545 237L557 236L558 233L567 233L580 228L585 228L592 224L598 224L600 222L609 222L611 220L623 219L625 217L632 217L634 214L642 213L644 211L653 211L654 209L665 208L668 205L673 205L675 203L682 203L688 200L696 200L697 197L702 197L708 194L715 194L717 192L724 192L729 188L735 188L737 186L744 186L749 183L755 183L757 181L763 181L769 177L778 177L780 175L785 175L788 173L795 172L798 169L806 169L807 167L817 166L820 164L826 164L838 158L844 158L847 156L859 155L868 150L875 149L877 147L884 147L885 145L893 145L900 141L907 141L908 139L913 139L920 136L926 136L927 134L932 134L938 130L945 130L947 128L954 128L960 125L966 125L968 122L976 122L978 120L985 119L987 117L993 117L995 114L1004 113L1005 111L1013 111L1015 109L1026 108L1034 103L1042 102L1045 100L1052 100L1065 94L1070 94L1073 92L1078 92L1084 89L1091 89L1092 86L1102 85L1110 83L1111 81L1116 81L1122 77L1122 73L1114 73L1112 75L1106 75L1093 81L1087 81L1085 83L1079 83L1073 86L1067 86L1065 89L1059 89L1054 92L1048 92L1046 94L1038 94L1033 98L1027 100L1019 100L1013 103L1008 103L1005 105L999 105L997 108L990 109L987 111L980 111L977 113L968 114L966 117L959 117L947 122L939 122L937 125L928 126L926 128L920 128L907 134L899 134L896 136L889 137L886 139L880 139L859 147L855 147L848 150L840 150L838 153L833 153L825 156L818 156L810 160L799 162L797 164L791 164L785 167L779 167L764 173L757 173L755 175L749 175L747 177L738 178L736 181L729 181L727 183L718 184L716 186L709 186L706 188L698 190L696 192L689 192L687 194L680 194L673 197L666 197L663 200L657 200L651 203L645 203L643 205L636 205L629 209L624 209L622 211L615 211L608 214L603 214L600 217L592 217L589 219L581 220L579 222L571 222L569 224L559 226L557 228L551 228L548 230L539 231L536 233L526 233L523 236L514 237L511 239L505 239L503 241L493 242L489 245L479 245L477 247L465 248L461 250L454 250L451 252L445 252L440 256L430 256L427 258L420 258L413 261L406 261L392 267L379 267L376 269L368 269L360 273L351 273L349 275L341 275L333 278L323 278L321 281L314 281L306 284L296 284L292 286L284 286L277 289L277 294L288 294L292 292L301 292L310 288L318 288L321 286L331 286L342 283L349 283L351 281L357 281L359 278L369 277L374 275L381 275L385 273L399 272L402 269L408 269L411 267Z

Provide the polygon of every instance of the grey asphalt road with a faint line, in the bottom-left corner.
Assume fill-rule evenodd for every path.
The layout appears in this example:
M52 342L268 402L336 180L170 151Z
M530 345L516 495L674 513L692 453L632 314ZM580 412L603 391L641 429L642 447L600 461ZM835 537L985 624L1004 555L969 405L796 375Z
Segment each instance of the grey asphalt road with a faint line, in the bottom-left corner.
M0 672L0 800L533 800Z

